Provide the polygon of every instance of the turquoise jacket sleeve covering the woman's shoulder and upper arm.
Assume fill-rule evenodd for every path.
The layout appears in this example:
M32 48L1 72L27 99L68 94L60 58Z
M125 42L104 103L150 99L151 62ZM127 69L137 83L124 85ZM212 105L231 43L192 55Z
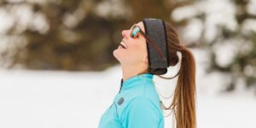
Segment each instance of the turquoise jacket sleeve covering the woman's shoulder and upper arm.
M122 115L125 128L158 128L160 112L145 97L136 97L127 105Z

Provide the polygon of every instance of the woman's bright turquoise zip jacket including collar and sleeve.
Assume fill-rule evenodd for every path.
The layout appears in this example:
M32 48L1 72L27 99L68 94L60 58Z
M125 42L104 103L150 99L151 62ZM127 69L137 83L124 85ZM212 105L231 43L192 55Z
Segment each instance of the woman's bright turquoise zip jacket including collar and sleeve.
M121 80L119 94L103 113L98 128L164 128L160 98L153 74L143 73Z

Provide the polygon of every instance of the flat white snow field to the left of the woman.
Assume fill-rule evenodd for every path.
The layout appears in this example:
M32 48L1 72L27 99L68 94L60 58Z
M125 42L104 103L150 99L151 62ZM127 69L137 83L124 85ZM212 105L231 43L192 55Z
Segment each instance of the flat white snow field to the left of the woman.
M105 73L2 71L0 76L1 128L96 127L119 88L119 80Z

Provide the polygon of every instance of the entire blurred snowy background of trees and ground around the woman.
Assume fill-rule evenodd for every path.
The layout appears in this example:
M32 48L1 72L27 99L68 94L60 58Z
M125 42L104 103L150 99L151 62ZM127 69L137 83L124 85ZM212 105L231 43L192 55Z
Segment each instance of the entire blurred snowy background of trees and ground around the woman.
M255 128L255 0L1 0L0 127L96 128L119 91L121 31L149 17L195 55L198 127ZM160 98L176 80L154 77Z

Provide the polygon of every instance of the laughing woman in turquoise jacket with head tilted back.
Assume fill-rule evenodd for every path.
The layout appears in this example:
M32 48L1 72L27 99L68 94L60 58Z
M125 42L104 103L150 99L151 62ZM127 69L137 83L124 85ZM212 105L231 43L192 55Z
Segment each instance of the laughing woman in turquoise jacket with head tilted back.
M195 128L195 59L180 44L175 29L163 20L145 19L124 30L122 35L119 48L113 51L123 71L121 87L102 115L99 128L163 128L162 109L172 109L177 128ZM177 52L181 53L181 59ZM178 61L181 66L177 75L160 76ZM178 77L170 107L160 101L153 75L162 79Z

